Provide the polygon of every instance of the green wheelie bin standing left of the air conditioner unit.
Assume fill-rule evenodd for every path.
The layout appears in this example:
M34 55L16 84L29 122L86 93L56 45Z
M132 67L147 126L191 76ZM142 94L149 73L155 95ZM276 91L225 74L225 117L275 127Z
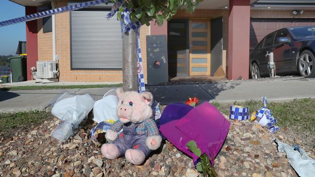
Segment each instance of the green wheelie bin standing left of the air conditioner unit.
M12 81L21 82L27 80L26 56L11 57Z

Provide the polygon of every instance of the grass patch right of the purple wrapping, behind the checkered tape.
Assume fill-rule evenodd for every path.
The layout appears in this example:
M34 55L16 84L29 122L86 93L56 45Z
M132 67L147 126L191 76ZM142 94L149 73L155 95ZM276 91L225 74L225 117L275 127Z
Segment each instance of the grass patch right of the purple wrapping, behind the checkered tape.
M212 103L221 113L229 115L229 104ZM234 103L246 106L250 113L263 106L262 101L246 101ZM267 108L277 119L278 133L291 142L300 141L303 148L315 150L315 99L296 99L290 102L268 102Z

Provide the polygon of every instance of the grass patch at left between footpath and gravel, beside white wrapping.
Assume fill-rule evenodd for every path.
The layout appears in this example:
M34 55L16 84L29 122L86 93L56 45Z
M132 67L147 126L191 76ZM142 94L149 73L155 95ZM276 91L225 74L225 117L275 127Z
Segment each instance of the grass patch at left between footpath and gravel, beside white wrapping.
M31 130L49 118L52 115L45 111L0 113L0 133L7 137L15 133L16 129Z

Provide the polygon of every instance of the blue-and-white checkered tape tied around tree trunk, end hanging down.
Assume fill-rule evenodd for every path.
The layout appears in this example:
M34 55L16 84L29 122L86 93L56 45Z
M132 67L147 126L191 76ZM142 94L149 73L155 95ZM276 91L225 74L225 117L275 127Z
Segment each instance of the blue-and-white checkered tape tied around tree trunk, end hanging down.
M111 18L113 15L116 14L118 11L118 7L120 7L121 3L124 2L124 0L117 0L116 4L112 7L111 12L107 15L107 18ZM130 13L129 9L126 7L123 7L124 11L122 12L122 18L121 18L121 27L122 27L122 33L129 32L129 31L135 31L137 33L137 73L138 73L138 86L139 86L139 93L145 91L144 86L144 74L143 74L143 64L142 64L142 55L141 55L141 48L140 48L140 27L141 23L139 21L132 22L130 19ZM122 35L123 36L123 35Z

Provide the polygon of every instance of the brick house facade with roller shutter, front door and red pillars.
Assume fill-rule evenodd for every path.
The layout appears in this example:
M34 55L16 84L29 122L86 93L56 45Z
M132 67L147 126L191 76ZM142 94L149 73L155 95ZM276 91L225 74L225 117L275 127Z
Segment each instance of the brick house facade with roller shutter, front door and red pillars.
M78 1L11 0L26 15ZM107 20L110 5L26 22L28 74L37 60L58 60L59 81L122 82L120 23ZM249 77L249 53L268 33L315 25L315 0L203 0L194 13L180 10L170 21L140 29L145 80L146 36L166 35L169 78ZM30 76L28 78L31 78Z

